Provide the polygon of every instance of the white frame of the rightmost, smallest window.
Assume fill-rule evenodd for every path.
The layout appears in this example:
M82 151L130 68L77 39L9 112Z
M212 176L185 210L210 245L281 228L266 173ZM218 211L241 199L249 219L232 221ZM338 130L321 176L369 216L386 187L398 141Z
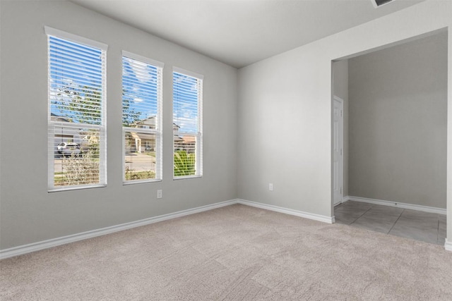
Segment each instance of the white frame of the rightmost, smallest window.
M173 75L173 82L172 82L172 92L173 92L173 112L172 112L172 118L173 118L173 124L174 124L174 73L179 73L182 75L189 76L191 78L196 78L198 82L198 133L184 133L184 132L177 132L179 135L191 135L196 137L196 149L195 149L195 171L196 173L192 176L174 176L174 130L173 130L173 137L172 137L172 176L173 180L182 180L187 178L201 178L203 176L203 80L204 75L201 75L199 73L195 73L193 71L185 70L179 67L173 66L172 68L172 75Z

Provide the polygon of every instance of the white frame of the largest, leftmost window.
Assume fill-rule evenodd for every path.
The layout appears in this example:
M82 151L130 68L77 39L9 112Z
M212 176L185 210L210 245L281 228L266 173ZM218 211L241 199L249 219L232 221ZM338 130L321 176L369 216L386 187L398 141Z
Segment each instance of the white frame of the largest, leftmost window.
M101 42L94 41L92 39L88 39L85 37L81 37L78 35L73 35L69 32L64 32L62 30L57 30L52 27L44 26L44 32L47 35L47 111L48 111L48 192L58 192L58 191L66 191L66 190L80 190L80 189L86 189L86 188L101 188L107 186L107 49L108 45L103 44ZM75 42L78 44L83 44L88 47L94 47L102 51L102 98L101 98L101 110L100 110L100 118L101 118L101 124L100 125L92 125L92 124L85 124L85 123L71 123L71 122L62 122L62 121L52 121L52 114L51 114L51 106L52 102L51 99L51 77L50 77L50 42L49 37L57 37L60 39L66 39L71 42ZM64 128L87 128L87 129L95 129L99 130L99 183L95 184L86 184L86 185L67 185L67 186L55 186L54 185L54 156L55 156L55 149L54 149L54 138L50 138L50 133L54 133L55 128L64 127Z

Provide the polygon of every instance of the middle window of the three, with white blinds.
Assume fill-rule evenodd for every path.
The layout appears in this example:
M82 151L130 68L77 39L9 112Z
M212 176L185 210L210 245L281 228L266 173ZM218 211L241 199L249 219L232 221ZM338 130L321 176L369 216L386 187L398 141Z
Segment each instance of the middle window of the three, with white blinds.
M162 179L162 68L123 51L124 183Z

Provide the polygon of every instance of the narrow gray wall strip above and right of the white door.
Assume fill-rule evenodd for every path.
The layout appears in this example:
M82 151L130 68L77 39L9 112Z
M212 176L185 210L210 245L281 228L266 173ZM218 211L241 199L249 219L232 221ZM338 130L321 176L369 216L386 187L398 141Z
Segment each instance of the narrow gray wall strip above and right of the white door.
M333 95L343 103L343 190L348 195L348 60L333 62Z

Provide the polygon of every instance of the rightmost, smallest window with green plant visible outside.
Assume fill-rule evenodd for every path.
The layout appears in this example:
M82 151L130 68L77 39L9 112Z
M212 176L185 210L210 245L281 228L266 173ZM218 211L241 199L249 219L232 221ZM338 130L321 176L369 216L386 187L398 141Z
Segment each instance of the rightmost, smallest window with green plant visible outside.
M203 174L203 75L173 70L174 178Z

